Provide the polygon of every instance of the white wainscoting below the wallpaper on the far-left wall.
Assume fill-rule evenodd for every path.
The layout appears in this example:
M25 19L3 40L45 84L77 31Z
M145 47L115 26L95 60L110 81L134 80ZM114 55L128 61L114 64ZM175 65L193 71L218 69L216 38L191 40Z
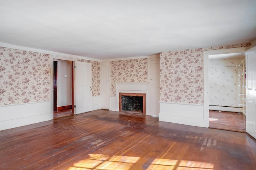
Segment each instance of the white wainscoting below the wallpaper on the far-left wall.
M52 119L51 102L33 102L0 106L0 130Z

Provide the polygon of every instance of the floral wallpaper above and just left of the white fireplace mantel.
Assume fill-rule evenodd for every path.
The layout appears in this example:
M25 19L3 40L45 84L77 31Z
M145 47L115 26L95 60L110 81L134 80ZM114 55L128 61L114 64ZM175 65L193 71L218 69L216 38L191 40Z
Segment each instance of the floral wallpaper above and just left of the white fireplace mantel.
M110 96L116 96L116 82L147 82L148 59L110 62Z

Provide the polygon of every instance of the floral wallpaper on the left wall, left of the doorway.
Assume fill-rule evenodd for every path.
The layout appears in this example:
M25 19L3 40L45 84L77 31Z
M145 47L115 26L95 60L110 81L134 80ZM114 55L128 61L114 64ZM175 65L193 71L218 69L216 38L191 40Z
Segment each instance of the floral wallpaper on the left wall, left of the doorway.
M0 47L0 105L50 100L50 55Z

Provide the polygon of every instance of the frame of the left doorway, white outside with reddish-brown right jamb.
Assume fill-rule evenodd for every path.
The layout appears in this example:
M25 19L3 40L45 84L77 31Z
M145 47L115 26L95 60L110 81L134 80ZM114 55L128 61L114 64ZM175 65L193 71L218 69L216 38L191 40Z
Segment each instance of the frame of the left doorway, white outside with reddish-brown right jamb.
M50 85L50 96L51 96L51 100L50 100L50 113L51 113L51 119L54 118L54 114L53 114L53 100L54 100L54 96L53 96L53 61L54 59L58 59L58 60L65 60L65 61L72 61L72 113L74 114L74 61L76 61L76 59L74 58L70 58L70 57L62 57L62 56L57 56L57 55L51 55L50 57L50 72L51 72L51 85Z

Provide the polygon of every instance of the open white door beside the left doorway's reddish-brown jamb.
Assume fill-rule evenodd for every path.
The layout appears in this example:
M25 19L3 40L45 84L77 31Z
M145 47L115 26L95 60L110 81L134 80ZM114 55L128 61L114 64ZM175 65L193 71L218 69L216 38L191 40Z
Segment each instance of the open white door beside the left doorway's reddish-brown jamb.
M75 114L92 111L92 63L75 61Z

